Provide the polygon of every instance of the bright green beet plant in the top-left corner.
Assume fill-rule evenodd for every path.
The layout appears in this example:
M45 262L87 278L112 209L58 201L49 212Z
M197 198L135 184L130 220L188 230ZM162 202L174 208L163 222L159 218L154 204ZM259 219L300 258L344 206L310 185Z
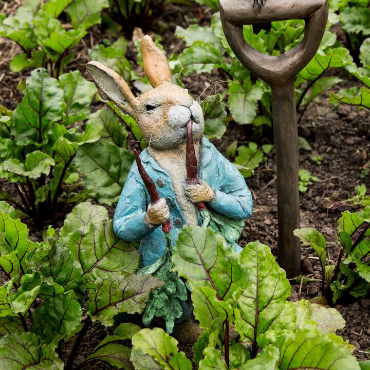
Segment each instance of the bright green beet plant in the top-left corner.
M107 0L28 0L16 13L0 15L0 35L15 41L23 50L10 61L14 72L24 68L46 68L58 78L73 61L76 46L87 29L101 22L100 11L108 7ZM60 22L68 14L71 27Z

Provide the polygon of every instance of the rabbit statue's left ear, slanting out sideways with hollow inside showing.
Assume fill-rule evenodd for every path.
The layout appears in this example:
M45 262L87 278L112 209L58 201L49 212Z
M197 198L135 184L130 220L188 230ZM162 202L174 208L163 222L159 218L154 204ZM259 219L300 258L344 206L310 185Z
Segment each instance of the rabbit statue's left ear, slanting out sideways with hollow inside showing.
M99 88L125 113L131 115L136 110L138 100L118 73L95 61L88 62L86 69Z

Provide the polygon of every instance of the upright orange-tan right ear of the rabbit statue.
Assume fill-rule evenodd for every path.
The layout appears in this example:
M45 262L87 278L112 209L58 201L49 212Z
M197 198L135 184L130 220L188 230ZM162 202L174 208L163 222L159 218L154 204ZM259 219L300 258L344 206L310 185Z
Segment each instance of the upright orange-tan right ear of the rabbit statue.
M141 40L141 54L146 77L153 87L157 87L162 82L172 83L172 74L168 60L155 46L149 35L145 35Z

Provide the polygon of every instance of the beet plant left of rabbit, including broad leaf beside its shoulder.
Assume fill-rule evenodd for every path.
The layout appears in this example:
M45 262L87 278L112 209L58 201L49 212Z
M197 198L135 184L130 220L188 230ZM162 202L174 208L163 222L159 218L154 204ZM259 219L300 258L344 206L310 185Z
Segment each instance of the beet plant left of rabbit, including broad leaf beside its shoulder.
M88 196L113 204L133 161L121 119L109 108L90 114L96 87L79 71L58 81L39 68L26 84L22 102L0 117L0 177L13 188L1 199L41 229Z

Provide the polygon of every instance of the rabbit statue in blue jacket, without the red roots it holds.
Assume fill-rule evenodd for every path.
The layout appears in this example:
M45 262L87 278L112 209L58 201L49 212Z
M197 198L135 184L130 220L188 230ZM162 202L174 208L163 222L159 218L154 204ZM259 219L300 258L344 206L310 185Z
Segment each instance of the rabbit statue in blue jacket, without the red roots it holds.
M150 197L134 162L120 195L114 231L125 241L141 240L141 267L155 263L164 253L166 241L159 227L170 218L173 244L183 225L201 223L196 204L232 220L252 213L252 197L244 178L209 140L202 136L204 117L188 90L173 84L165 55L149 35L141 43L144 70L153 89L135 97L127 83L98 62L86 66L101 90L140 127L148 146L140 159L156 183L161 199L150 205ZM186 182L186 132L192 134L198 162L199 183ZM240 234L239 234L240 235ZM237 238L236 238L237 239ZM240 247L235 247L241 250Z

